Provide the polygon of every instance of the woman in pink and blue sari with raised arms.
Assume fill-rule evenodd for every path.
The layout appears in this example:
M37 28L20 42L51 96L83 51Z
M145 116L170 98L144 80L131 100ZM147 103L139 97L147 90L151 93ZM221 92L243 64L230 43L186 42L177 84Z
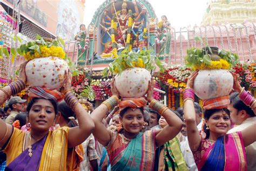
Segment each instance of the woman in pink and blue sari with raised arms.
M245 147L256 141L256 132L253 129L256 123L240 132L227 134L231 125L230 111L226 105L228 103L223 103L220 99L210 99L204 103L207 104L204 105L204 131L199 132L193 103L193 82L197 74L198 72L194 72L188 77L183 95L188 144L198 170L246 170ZM240 92L241 100L251 106L255 113L255 99L241 88L237 75L232 75L233 89Z

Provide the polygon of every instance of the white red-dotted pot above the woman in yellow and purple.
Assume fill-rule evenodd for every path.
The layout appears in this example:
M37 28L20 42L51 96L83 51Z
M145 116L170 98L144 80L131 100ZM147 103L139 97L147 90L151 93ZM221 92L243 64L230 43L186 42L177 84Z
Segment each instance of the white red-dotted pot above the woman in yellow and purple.
M65 70L68 69L68 63L58 57L36 58L26 64L26 80L31 87L59 89L64 84Z

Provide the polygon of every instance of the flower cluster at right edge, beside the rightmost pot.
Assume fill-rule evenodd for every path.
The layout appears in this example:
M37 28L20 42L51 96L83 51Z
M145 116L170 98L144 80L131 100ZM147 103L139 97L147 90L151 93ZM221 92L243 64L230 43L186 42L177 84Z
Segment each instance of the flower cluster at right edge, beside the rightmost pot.
M239 82L246 89L256 90L256 66L255 62L238 64L233 67L234 73L239 75Z

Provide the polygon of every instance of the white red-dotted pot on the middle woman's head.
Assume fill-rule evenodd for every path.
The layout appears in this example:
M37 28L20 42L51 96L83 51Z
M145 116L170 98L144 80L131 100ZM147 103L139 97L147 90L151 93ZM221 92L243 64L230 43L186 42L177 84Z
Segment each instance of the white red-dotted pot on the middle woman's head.
M122 97L142 97L149 88L150 72L145 68L128 68L116 76L116 88Z

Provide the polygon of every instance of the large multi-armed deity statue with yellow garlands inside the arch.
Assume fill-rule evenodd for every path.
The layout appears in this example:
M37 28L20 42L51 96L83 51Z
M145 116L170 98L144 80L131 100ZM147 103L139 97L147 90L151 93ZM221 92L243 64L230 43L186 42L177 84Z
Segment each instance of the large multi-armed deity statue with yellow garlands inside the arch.
M122 9L120 11L116 11L114 6L114 2L112 2L111 14L112 18L107 15L107 10L104 11L104 16L107 20L111 22L105 22L104 18L102 19L102 23L100 24L103 27L103 30L109 34L112 42L112 53L114 58L117 56L117 44L122 44L123 47L131 48L132 43L132 26L137 26L140 24L138 20L142 17L142 14L146 12L145 9L142 9L139 12L137 3L132 2L134 5L135 13L132 13L132 10L127 8L127 3L123 2ZM105 25L109 25L110 27L105 27ZM111 31L111 34L109 33Z

